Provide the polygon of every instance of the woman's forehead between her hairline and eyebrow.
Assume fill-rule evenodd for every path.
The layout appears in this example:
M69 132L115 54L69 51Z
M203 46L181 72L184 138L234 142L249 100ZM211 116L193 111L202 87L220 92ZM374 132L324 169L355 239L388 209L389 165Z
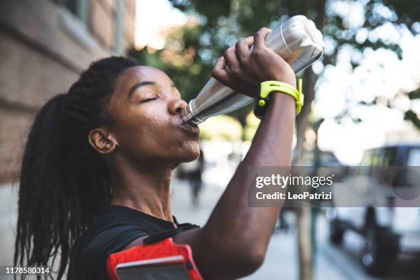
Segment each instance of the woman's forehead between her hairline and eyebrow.
M128 91L137 82L155 82L156 84L172 84L172 80L165 72L150 66L130 67L117 79L117 89Z

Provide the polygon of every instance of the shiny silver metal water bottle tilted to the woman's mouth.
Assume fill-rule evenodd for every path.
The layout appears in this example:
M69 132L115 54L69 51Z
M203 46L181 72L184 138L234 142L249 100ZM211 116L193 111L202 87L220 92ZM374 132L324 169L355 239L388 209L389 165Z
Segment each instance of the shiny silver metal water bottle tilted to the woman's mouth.
M292 16L266 37L268 48L279 54L294 70L302 71L323 54L323 35L306 16ZM252 48L252 47L251 47ZM200 124L207 118L230 113L253 102L211 78L194 100L181 112L184 122Z

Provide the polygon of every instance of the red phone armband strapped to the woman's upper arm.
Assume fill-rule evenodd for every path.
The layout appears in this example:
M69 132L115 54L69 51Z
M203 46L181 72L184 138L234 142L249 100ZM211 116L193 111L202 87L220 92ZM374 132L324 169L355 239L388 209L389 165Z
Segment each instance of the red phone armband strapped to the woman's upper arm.
M175 244L172 237L109 255L106 271L112 280L202 280L194 264L191 248L186 244Z

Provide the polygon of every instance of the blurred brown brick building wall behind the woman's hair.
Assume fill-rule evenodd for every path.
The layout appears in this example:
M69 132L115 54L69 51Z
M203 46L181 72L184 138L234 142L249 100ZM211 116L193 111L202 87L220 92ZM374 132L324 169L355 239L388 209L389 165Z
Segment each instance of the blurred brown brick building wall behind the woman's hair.
M67 91L91 61L113 54L116 1L91 0L84 33L74 32L78 21L59 0L1 1L0 183L19 173L38 108ZM134 42L135 0L124 1L126 49Z

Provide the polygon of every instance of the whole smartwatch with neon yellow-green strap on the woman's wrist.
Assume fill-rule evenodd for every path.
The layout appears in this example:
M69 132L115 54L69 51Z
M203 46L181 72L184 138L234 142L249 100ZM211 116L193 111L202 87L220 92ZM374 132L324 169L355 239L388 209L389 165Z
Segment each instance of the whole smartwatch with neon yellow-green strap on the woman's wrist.
M279 81L266 81L261 82L259 85L259 95L255 98L254 114L257 118L261 119L270 104L270 93L272 91L279 91L288 94L296 100L296 115L301 113L303 106L303 93L302 93L302 79L298 80L298 90L292 85L279 82Z

